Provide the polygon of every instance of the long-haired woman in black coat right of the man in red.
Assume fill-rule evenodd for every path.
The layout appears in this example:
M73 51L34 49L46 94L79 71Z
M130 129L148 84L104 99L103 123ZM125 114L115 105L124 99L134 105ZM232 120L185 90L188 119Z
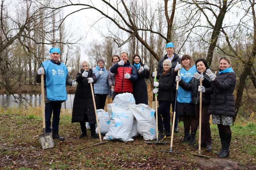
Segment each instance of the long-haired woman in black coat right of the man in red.
M135 104L144 103L148 105L148 88L144 78L149 78L149 67L141 62L138 54L135 54L132 60L132 65L134 65L138 73L138 79L132 84Z

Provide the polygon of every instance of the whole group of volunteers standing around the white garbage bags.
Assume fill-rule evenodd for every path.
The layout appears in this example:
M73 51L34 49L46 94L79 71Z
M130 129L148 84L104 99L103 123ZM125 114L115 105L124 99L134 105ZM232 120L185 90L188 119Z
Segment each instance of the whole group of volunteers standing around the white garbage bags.
M158 93L158 141L165 137L171 137L172 110L176 108L176 120L174 132L178 131L178 117L183 117L184 138L182 142L189 141L190 145L196 143L196 131L199 122L199 94L202 95L202 138L201 146L206 151L212 149L210 115L212 123L218 125L221 150L217 153L219 157L227 157L231 141L230 125L235 115L235 100L233 92L236 85L236 74L231 68L228 57L219 60L219 73L213 73L205 59L198 59L194 64L189 55L181 58L174 53L174 45L169 42L165 46L166 55L159 60L157 71L152 73L158 82L154 82L153 93ZM59 61L60 48L50 49L51 60L41 64L35 75L37 83L41 82L40 76L44 75L45 91L45 125L46 132L52 132L52 137L64 140L59 135L60 107L67 100L66 85L76 87L72 122L80 122L80 138L86 137L85 122L89 122L91 137L99 138L95 133L96 116L92 99L92 89L95 94L97 109L104 109L107 96L114 100L115 96L130 92L133 94L135 103L148 105L148 93L145 79L149 78L149 67L144 65L139 55L134 55L132 63L128 60L128 54L122 52L120 57L113 55L112 66L109 70L105 68L102 58L97 60L96 68L90 68L89 62L82 60L76 79L72 80L68 74L67 66ZM180 70L180 74L178 72ZM203 85L200 86L200 79ZM179 81L177 99L176 83ZM177 100L176 107L175 100ZM51 129L51 117L52 129ZM190 133L191 127L191 133ZM198 147L198 145L196 145Z

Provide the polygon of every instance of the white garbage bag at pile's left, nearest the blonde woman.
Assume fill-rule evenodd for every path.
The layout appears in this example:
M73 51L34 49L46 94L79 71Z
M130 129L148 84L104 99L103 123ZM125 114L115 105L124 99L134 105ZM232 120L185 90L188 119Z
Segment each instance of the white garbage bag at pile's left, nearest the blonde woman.
M108 112L105 112L105 110L103 109L98 109L97 115L99 119L100 134L105 135L106 133L108 133L109 123L110 123ZM98 128L95 129L95 132L96 134L99 134Z

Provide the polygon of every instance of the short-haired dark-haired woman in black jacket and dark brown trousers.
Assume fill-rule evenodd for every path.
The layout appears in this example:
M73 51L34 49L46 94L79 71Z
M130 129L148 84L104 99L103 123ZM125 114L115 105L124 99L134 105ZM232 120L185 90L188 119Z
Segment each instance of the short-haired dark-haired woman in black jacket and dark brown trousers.
M194 74L194 78L186 83L182 79L179 82L180 87L184 90L191 90L191 103L194 104L197 126L199 123L199 103L200 103L200 93L198 92L198 86L200 85L200 78L203 78L203 86L210 87L211 86L211 78L207 76L206 69L208 69L207 62L205 59L198 59L196 61L196 69L199 72ZM203 75L200 73L203 72ZM208 114L208 108L211 103L211 96L209 94L202 94L202 129L201 129L201 146L206 147L206 151L210 151L212 149L212 137L211 137L211 129L210 129L210 115ZM189 134L187 134L188 136ZM198 144L196 145L198 148Z

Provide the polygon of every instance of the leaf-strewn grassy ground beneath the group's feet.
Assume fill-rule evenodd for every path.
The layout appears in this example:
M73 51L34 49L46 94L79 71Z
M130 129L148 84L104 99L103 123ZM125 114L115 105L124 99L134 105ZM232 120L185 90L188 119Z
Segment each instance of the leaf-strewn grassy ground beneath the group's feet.
M86 137L79 139L79 123L71 123L71 111L61 110L60 134L66 140L54 141L55 147L41 149L38 135L42 134L41 108L0 108L0 167L1 169L232 169L256 168L255 129L256 119L237 118L231 126L232 141L228 159L218 159L220 138L216 125L211 125L212 151L202 152L211 159L195 157L190 152L197 150L183 139L183 123L180 133L174 134L173 150L181 154L159 152L169 150L170 145L146 144L142 137L134 142L108 141L92 146L99 140ZM88 135L90 131L88 130ZM197 138L198 139L198 132ZM165 139L170 141L170 138ZM218 160L218 161L216 161ZM220 163L220 161L225 162ZM207 161L212 163L210 166Z

